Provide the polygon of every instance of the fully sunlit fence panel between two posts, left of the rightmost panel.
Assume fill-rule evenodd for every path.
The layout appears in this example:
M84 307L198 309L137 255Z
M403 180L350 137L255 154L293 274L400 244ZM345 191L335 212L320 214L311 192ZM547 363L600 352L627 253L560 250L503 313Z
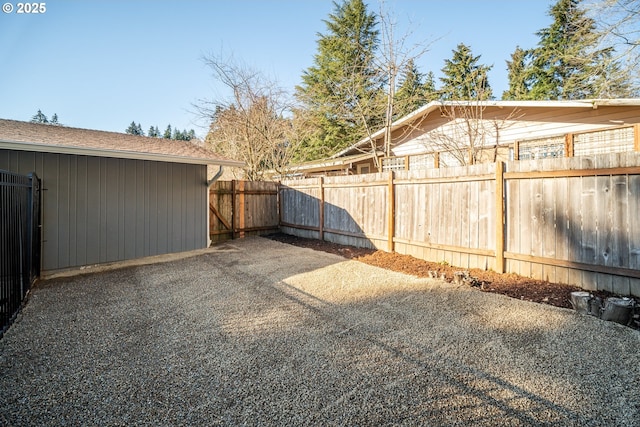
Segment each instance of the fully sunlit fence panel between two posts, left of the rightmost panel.
M495 165L398 172L396 252L462 268L495 257Z

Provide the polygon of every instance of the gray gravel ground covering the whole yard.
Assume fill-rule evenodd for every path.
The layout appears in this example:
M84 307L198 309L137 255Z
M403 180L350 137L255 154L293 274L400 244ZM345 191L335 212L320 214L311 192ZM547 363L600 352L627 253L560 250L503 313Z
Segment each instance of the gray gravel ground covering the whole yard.
M640 425L640 332L262 238L37 286L2 425Z

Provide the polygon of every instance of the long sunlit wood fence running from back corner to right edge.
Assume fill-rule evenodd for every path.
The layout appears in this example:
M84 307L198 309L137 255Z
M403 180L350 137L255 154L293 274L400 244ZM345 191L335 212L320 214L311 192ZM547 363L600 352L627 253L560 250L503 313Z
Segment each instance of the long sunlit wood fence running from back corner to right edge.
M640 156L284 181L280 228L640 296Z

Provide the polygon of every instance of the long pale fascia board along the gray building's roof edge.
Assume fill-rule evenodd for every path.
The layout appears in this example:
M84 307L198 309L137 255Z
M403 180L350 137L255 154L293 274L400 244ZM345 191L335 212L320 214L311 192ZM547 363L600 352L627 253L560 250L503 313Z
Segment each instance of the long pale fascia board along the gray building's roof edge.
M75 154L80 156L113 157L117 159L150 160L156 162L184 163L192 165L220 165L243 167L244 162L213 160L207 158L174 156L169 154L142 153L139 151L106 150L99 148L71 147L67 145L37 144L32 142L0 140L0 149L33 151L38 153Z

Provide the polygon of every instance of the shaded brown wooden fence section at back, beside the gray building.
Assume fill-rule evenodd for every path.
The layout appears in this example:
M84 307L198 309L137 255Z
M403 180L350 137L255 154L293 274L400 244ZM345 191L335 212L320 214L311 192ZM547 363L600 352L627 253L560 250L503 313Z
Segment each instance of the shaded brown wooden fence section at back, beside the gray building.
M278 183L217 181L209 190L212 241L278 231Z

